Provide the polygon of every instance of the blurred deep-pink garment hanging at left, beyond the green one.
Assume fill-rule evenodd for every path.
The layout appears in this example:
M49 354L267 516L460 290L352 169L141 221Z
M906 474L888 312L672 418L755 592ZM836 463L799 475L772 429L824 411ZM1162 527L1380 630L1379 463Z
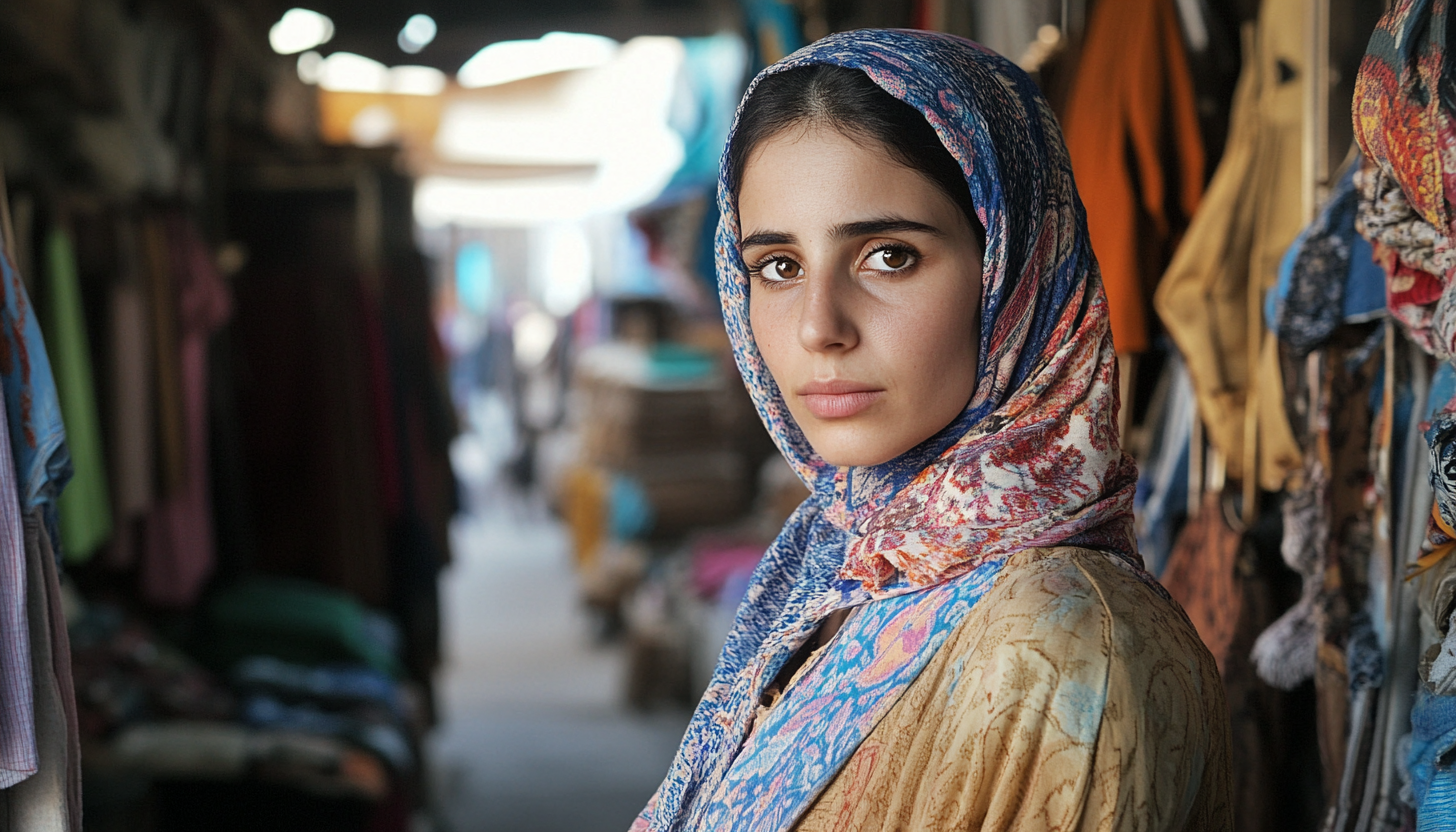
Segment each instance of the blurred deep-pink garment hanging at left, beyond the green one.
M197 602L213 574L213 492L207 421L207 345L233 312L232 293L213 265L207 245L191 223L167 223L178 293L178 351L182 412L186 431L186 479L162 498L146 520L141 592L159 606L185 608Z

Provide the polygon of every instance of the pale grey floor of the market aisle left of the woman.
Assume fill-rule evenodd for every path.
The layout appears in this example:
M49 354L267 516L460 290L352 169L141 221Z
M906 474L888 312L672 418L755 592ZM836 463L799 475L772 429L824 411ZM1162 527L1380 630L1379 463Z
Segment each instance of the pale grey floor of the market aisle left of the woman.
M562 527L515 500L483 503L457 520L441 587L440 820L446 832L625 832L687 714L622 705L620 648L591 644Z

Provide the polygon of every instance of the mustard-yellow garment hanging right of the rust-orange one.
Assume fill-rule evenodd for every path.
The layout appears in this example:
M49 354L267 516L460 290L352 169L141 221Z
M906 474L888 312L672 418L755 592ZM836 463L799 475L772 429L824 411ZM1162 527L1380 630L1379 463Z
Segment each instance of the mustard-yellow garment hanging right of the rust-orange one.
M1299 0L1265 0L1245 31L1223 160L1153 299L1229 476L1270 491L1302 463L1262 305L1302 224L1303 32Z

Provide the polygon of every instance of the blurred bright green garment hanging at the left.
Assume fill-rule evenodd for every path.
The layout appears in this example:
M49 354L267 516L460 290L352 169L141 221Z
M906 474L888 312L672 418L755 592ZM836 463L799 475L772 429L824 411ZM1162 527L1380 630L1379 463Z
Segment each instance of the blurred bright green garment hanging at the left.
M84 562L111 538L111 494L76 252L70 235L58 227L45 240L45 277L42 323L76 471L58 506L61 551L67 561Z

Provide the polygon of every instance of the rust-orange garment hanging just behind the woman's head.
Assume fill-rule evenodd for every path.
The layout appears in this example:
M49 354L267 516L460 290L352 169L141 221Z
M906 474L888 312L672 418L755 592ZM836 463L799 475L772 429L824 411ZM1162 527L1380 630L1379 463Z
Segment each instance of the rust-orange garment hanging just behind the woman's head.
M1174 0L1092 9L1061 119L1112 345L1149 348L1147 306L1203 197L1203 137Z

